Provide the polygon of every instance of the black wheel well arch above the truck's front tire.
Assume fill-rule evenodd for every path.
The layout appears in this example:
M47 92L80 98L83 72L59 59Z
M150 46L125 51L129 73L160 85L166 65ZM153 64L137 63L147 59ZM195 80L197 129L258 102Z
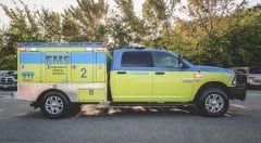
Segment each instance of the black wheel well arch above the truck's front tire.
M194 98L194 102L196 102L199 98L200 98L200 92L207 88L210 87L214 87L214 88L219 88L221 90L223 90L227 95L228 99L231 99L229 94L228 94L228 88L226 87L226 84L222 83L222 82L217 82L217 81L211 81L211 82L207 82L203 86L200 87L200 89L198 90L196 96Z

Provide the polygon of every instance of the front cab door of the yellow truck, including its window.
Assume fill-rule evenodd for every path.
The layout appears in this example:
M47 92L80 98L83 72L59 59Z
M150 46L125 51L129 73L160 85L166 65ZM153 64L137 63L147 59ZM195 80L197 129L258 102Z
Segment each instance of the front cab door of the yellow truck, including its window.
M152 52L154 73L152 95L159 102L186 102L192 95L194 73L178 67L178 60L165 51Z

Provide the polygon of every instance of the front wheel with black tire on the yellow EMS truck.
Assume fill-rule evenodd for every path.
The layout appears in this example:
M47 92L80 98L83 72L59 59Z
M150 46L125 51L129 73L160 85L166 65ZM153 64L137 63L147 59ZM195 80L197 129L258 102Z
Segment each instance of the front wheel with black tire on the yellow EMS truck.
M220 117L227 112L229 100L222 89L206 88L199 95L196 104L204 116Z

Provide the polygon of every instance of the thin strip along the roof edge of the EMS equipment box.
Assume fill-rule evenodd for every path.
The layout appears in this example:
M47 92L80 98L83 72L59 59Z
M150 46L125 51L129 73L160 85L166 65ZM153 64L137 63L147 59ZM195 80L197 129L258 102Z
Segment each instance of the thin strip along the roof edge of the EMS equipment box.
M32 42L20 43L18 48L104 48L103 42Z

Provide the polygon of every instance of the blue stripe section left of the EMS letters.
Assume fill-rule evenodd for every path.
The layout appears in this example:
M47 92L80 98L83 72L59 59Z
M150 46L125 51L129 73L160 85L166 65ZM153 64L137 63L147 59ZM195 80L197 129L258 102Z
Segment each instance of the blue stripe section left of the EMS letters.
M20 53L21 64L40 64L44 54L40 52L22 52Z

